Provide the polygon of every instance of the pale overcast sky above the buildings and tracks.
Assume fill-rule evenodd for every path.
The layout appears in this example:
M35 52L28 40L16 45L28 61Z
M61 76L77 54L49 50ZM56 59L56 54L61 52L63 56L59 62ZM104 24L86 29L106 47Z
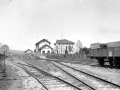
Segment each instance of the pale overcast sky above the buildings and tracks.
M120 0L0 0L0 42L35 49L48 39L91 43L120 41Z

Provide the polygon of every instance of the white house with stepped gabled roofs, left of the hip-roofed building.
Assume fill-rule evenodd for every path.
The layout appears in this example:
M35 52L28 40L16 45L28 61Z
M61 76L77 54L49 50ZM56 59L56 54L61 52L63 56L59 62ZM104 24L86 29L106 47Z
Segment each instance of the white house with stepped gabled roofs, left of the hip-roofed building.
M50 42L46 39L42 39L35 44L36 46L36 53L38 55L45 55L49 54L53 51L53 48L50 46Z

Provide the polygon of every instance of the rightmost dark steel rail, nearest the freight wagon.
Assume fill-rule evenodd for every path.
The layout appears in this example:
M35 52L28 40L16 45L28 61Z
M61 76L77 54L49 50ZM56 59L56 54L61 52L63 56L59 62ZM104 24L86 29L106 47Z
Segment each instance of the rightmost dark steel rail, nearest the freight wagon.
M54 61L54 62L55 62L55 61ZM58 63L58 62L56 62L56 63ZM91 76L91 77L93 77L93 78L96 78L96 79L98 79L98 80L101 80L101 81L103 81L103 82L109 83L109 84L111 84L111 85L113 85L113 86L116 86L116 87L120 88L120 85L115 84L115 83L113 83L113 82L107 81L107 80L105 80L105 79L102 79L102 78L100 78L100 77L94 76L94 75L89 74L89 73L86 73L86 72L84 72L84 71L75 69L75 68L73 68L73 67L70 67L70 66L65 65L65 64L62 64L62 63L58 63L58 64L61 64L61 65L63 65L63 66L66 66L66 67L68 67L68 68L71 68L71 69L73 69L73 70L76 70L76 71L78 71L78 72L81 72L81 73L83 73L83 74L86 74L86 75L88 75L88 76Z

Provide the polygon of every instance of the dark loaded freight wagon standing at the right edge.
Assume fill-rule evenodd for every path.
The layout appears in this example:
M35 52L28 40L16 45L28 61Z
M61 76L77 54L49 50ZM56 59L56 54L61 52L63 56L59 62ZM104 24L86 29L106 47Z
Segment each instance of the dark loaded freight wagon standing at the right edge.
M120 66L120 41L109 43L93 43L90 46L90 57L97 59L99 65Z

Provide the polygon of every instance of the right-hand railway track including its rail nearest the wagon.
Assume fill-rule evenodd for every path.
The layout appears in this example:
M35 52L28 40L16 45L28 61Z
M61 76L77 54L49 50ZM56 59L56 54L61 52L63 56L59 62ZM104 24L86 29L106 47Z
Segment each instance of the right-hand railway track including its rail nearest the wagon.
M94 90L120 90L120 85L117 85L105 79L96 77L87 72L77 70L73 67L70 67L62 63L58 63L54 61L51 61L51 63L59 67L61 70L81 80L83 83L91 86Z

